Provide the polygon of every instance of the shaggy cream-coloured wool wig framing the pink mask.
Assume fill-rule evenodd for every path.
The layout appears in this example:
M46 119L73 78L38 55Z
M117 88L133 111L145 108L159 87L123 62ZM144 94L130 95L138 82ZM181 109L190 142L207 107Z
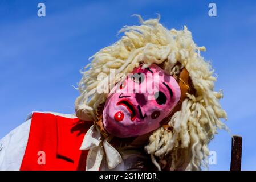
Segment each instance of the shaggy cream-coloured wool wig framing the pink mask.
M180 111L169 118L168 125L173 130L166 131L163 127L155 130L145 150L159 170L166 164L170 170L208 169L208 143L218 129L227 129L220 121L227 119L227 114L219 103L221 90L214 91L216 77L213 69L200 55L205 47L194 43L186 26L184 30L168 30L159 23L160 16L145 21L136 16L141 24L124 26L119 31L124 32L124 36L97 52L92 56L91 64L84 68L78 85L80 96L75 102L76 115L83 120L96 121L97 108L107 98L107 94L97 92L97 86L109 81L110 69L115 69L116 77L109 83L116 83L120 81L120 73L128 75L140 63L144 63L144 68L153 63L164 64L165 72L170 75L185 67L196 92L187 93ZM102 73L108 77L97 80Z

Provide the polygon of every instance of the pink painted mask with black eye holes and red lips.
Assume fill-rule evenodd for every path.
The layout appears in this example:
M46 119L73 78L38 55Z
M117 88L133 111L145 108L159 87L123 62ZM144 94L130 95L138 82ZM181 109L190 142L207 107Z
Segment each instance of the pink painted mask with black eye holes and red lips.
M121 138L159 128L181 97L177 81L155 64L145 69L140 66L132 73L111 90L103 110L105 130Z

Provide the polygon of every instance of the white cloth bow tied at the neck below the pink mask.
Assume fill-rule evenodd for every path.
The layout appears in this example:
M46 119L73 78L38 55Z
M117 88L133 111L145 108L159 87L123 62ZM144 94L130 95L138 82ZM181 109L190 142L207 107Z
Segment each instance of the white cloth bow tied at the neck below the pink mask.
M93 125L84 136L80 150L89 150L86 160L86 170L126 171L140 160L145 159L140 151L128 146L114 148L107 139L102 139L99 129Z

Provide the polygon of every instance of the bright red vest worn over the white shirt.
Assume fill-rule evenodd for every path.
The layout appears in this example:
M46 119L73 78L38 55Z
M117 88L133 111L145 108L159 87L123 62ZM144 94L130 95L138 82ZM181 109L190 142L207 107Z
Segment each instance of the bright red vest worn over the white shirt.
M88 151L79 148L91 125L77 118L33 113L21 170L85 170ZM39 151L45 154L45 164Z

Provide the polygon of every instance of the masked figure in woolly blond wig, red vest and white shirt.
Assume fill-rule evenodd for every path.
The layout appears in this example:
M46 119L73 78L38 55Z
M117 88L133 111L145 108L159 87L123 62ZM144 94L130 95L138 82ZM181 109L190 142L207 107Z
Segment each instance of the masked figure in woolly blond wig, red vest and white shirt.
M2 170L200 170L226 129L213 70L191 32L159 19L124 36L84 68L75 114L33 112L0 144Z

